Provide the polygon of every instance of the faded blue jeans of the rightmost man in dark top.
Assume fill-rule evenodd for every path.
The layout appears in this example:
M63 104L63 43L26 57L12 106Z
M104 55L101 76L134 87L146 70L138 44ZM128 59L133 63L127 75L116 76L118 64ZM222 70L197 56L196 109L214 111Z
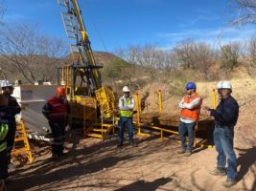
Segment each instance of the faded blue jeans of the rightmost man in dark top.
M225 168L227 159L227 178L235 180L237 176L237 158L234 152L234 127L215 125L214 142L218 152L217 166Z

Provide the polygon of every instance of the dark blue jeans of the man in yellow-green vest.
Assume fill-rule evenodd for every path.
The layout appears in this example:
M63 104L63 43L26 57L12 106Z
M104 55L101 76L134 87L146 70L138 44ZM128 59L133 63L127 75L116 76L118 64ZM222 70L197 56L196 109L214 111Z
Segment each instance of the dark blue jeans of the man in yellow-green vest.
M125 127L128 126L128 140L132 141L133 139L133 127L132 127L132 117L120 117L120 133L119 133L119 142L123 143Z

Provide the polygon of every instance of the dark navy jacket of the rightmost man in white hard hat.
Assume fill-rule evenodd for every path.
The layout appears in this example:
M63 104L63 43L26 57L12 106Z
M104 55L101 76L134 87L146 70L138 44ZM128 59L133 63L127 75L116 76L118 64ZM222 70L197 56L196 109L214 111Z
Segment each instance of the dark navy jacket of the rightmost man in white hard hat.
M237 124L239 105L232 96L221 99L217 109L210 111L211 116L215 117L215 122L220 126L235 126Z

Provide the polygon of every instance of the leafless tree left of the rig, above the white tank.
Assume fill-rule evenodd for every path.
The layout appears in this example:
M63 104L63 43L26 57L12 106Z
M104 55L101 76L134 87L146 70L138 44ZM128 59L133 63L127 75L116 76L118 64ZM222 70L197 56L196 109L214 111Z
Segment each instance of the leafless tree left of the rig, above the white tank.
M22 74L29 83L54 80L67 53L62 40L39 34L32 24L5 27L0 38L1 68Z

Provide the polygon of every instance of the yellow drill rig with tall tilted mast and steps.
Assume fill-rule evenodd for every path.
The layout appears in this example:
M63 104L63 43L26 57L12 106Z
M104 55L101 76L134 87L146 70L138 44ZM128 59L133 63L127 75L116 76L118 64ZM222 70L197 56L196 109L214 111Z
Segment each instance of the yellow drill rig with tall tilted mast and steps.
M71 39L73 64L60 69L60 84L66 88L71 105L71 121L82 125L87 136L104 139L114 129L113 91L102 85L103 67L95 62L78 0L58 0L58 5L65 9L61 18Z

